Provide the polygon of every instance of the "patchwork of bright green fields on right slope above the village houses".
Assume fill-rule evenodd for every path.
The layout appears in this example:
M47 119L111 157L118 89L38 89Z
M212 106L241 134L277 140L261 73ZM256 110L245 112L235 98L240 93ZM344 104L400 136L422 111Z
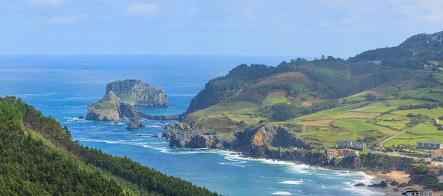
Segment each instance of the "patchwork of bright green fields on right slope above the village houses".
M355 95L355 98L357 98L357 95ZM338 140L356 140L364 139L364 137L378 137L376 140L376 143L378 143L387 137L401 132L401 130L405 128L405 124L410 122L410 118L406 117L408 113L420 113L430 117L440 117L443 115L442 108L432 110L396 110L396 108L401 105L421 105L425 103L432 102L393 98L391 100L380 100L370 103L355 103L299 117L288 123L308 125L307 131L301 133L301 137L325 147L335 146ZM386 113L389 110L393 110L393 112ZM381 113L386 114L381 115ZM401 119L401 121L384 121L384 119L387 118ZM334 127L332 127L331 124L333 124ZM431 131L418 132L418 130L421 129L431 129ZM398 139L387 142L385 146L391 146L394 143L395 145L401 143L415 146L416 142L420 139L420 141L430 141L430 138L443 139L443 131L436 132L436 129L437 127L432 124L424 123L410 129L409 132L403 134ZM432 137L426 136L427 134ZM439 134L442 136L439 136Z

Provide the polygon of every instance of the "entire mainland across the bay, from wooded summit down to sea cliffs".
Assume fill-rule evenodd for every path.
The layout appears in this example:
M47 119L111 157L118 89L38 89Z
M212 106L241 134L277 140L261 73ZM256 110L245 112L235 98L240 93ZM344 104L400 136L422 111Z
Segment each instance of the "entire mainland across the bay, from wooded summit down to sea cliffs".
M187 129L165 132L188 136L172 136L171 145L357 170L405 170L430 157L415 149L417 142L443 143L441 122L431 122L443 118L443 45L437 35L414 35L397 47L347 60L322 55L276 67L238 65L192 99L180 122ZM285 137L278 126L287 127ZM340 140L364 142L367 150L328 160L325 150Z

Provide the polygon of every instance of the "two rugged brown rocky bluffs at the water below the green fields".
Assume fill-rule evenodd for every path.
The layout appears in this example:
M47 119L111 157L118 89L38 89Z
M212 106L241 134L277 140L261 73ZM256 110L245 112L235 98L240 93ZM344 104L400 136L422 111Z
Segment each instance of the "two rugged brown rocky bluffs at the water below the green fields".
M169 139L170 146L229 149L253 158L303 161L314 165L329 164L323 152L309 151L309 144L295 137L282 125L267 123L237 132L234 136L235 139L219 139L217 134L192 129L183 122L166 125L162 135Z

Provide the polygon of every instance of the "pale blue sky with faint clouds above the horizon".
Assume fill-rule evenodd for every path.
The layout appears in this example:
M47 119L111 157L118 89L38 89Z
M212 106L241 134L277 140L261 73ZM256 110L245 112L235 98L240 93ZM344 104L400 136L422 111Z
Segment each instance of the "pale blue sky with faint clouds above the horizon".
M0 54L347 59L443 30L439 0L0 0Z

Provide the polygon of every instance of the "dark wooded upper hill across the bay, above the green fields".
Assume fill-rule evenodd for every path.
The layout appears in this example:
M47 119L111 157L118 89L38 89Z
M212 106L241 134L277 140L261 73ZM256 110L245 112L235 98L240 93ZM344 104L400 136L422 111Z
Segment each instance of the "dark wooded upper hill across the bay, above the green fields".
M369 50L347 60L322 55L311 61L292 59L277 67L241 64L226 76L210 80L187 113L233 99L248 98L262 105L272 91L283 91L289 103L316 103L405 81L418 85L411 88L426 86L435 81L417 71L437 71L442 67L442 52L441 33L434 33L414 35L397 47ZM386 88L389 93L402 90Z

